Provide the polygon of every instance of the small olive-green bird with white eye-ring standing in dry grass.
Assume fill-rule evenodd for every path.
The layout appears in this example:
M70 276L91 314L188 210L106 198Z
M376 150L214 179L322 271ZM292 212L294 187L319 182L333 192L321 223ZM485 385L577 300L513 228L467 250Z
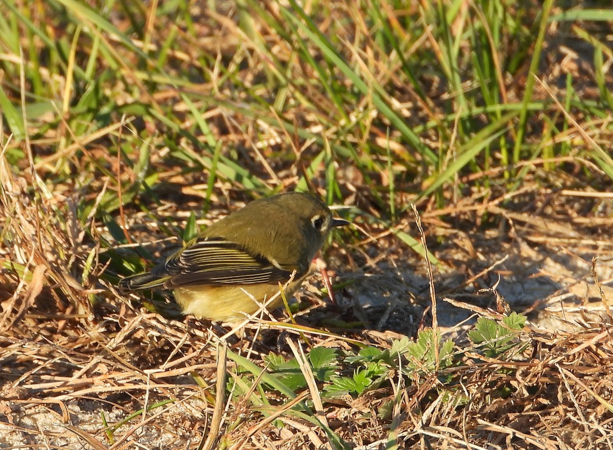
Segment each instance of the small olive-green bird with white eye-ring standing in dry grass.
M123 278L119 288L173 289L185 314L211 321L244 318L259 310L257 302L274 296L279 283L291 280L289 295L299 288L330 230L347 224L308 194L254 200L211 224L151 272ZM281 302L278 296L267 309Z

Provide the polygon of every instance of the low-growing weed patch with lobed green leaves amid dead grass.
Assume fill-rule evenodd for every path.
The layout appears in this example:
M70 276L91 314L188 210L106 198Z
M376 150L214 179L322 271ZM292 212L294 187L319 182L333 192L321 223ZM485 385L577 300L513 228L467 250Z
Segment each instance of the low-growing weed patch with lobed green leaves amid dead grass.
M508 359L511 349L524 348L517 335L525 321L525 316L517 313L511 313L501 321L480 318L474 329L468 332L468 337L478 354ZM435 343L434 339L433 330L425 329L419 332L416 340L404 337L392 341L389 349L365 346L357 351L341 351L316 347L308 353L307 362L314 379L321 384L324 399L336 399L342 395L358 397L389 386L398 374L406 385L422 383L435 375L441 382L438 386L455 386L454 376L459 371L447 370L463 364L460 353L454 351L455 341L439 338ZM295 358L286 359L270 353L264 361L268 364L268 375L292 392L307 387L307 380ZM244 379L243 382L245 386L250 384Z

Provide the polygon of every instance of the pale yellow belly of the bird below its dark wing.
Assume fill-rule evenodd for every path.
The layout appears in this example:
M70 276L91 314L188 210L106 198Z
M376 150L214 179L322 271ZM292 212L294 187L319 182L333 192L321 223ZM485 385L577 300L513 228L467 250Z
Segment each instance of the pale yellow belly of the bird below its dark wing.
M285 289L286 296L298 288L302 280L294 281ZM249 292L247 294L246 292ZM183 313L212 321L231 321L243 319L260 309L251 296L259 303L272 298L279 288L275 284L245 284L243 286L186 286L175 289L175 299L183 308ZM273 310L283 303L277 296L269 303L267 310Z

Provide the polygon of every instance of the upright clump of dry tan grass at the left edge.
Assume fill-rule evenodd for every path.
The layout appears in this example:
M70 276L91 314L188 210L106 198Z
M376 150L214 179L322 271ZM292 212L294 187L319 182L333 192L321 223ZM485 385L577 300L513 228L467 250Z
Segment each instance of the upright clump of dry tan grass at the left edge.
M85 231L75 218L74 204L51 192L34 171L13 174L4 151L0 180L0 270L3 289L10 294L2 299L0 331L31 315L35 303L43 319L88 318L91 286L84 265L91 249L83 246Z

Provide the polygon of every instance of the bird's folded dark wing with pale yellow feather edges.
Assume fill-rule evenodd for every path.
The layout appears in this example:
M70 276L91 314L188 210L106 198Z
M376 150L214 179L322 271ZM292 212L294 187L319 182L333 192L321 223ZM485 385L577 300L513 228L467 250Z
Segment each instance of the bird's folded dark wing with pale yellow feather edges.
M224 238L197 238L151 272L157 276L170 275L164 284L166 288L196 284L274 284L289 280L292 273Z

